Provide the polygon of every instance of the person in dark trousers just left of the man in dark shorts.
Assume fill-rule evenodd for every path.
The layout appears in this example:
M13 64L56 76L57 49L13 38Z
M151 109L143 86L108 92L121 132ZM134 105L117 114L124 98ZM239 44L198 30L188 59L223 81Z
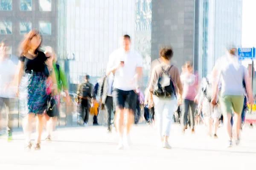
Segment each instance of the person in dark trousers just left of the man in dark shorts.
M108 132L111 132L111 112L115 113L115 107L113 103L113 81L114 75L110 74L103 78L101 86L99 88L100 91L100 103L106 108L106 117L107 117L107 127Z

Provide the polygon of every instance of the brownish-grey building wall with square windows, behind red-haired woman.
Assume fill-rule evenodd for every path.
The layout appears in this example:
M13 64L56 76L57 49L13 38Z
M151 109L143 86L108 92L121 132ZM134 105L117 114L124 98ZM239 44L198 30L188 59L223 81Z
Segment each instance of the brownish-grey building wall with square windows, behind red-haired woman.
M42 2L44 3L45 0ZM20 33L20 23L26 23L27 31L36 28L40 30L40 22L50 23L51 30L47 30L47 26L41 25L41 31L50 33L49 35L42 35L43 45L50 45L57 50L57 15L58 15L58 0L47 0L52 1L51 11L41 11L45 8L40 9L39 0L5 0L0 1L0 41L7 39L10 41L12 54L17 55L17 48L19 47L20 41L23 39L24 32ZM4 3L5 2L5 3ZM24 8L24 2L27 4ZM31 6L30 6L31 5ZM7 7L8 6L8 7ZM7 9L7 10L6 10ZM21 11L25 9L28 11ZM8 33L6 34L6 24L9 25Z

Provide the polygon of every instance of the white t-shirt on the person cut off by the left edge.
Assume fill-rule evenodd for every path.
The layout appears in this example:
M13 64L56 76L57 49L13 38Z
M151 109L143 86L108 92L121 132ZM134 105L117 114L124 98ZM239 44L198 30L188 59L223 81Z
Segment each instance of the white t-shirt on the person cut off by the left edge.
M16 65L10 59L0 61L0 97L15 97L15 88L10 86L14 80L15 71Z

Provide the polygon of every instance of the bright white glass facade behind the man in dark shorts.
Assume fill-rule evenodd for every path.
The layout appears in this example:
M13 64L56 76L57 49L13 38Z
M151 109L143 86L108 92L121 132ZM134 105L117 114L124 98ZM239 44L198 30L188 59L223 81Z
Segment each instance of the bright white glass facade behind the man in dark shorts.
M91 82L105 75L120 37L131 36L131 48L144 58L146 86L151 54L151 0L66 0L65 71L70 91L89 74ZM60 11L59 11L60 13ZM62 36L62 35L60 35ZM60 44L59 44L60 45Z

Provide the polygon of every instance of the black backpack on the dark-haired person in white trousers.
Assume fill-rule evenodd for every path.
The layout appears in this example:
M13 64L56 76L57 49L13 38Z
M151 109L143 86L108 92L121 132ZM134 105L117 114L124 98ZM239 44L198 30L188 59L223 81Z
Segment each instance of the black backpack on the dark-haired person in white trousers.
M172 77L169 74L169 71L171 70L173 65L168 69L168 71L164 71L162 67L162 74L159 77L157 84L155 85L153 95L158 96L158 97L171 97L172 94L176 96L176 90L175 90L175 84L172 81ZM168 85L163 85L163 81L166 81L165 79L167 78L168 80Z

